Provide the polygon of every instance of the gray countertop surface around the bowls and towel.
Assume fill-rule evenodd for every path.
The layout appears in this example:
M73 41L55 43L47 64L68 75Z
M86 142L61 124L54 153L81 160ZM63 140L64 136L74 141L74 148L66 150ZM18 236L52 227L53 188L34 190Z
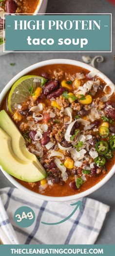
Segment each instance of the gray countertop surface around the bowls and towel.
M113 14L113 51L102 53L104 62L97 68L115 82L115 6L106 0L49 0L47 13L112 13ZM93 57L100 53L90 53ZM68 58L82 60L82 55L88 53L9 53L0 56L0 91L7 82L22 69L36 62L53 59ZM16 63L11 66L10 63ZM13 186L0 172L0 188ZM115 175L95 193L90 195L104 204L110 205L103 228L96 241L97 244L115 244Z

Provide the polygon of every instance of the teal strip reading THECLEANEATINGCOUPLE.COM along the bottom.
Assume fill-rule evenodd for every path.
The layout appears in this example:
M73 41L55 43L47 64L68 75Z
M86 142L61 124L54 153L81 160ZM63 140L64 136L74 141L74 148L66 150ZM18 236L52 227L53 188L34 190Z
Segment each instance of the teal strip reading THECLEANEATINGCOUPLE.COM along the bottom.
M114 256L115 245L0 245L0 255Z

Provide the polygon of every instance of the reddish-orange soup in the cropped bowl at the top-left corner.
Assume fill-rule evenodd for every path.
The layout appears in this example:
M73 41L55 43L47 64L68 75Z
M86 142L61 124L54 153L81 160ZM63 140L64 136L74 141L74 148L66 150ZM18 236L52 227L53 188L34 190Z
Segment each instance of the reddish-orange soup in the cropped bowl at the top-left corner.
M39 0L1 0L0 7L6 13L34 13Z

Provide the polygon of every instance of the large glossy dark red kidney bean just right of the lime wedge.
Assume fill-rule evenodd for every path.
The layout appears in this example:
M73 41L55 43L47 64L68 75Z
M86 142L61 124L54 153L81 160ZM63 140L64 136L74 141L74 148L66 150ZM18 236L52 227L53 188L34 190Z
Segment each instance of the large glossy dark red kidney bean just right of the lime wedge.
M48 81L46 85L43 87L43 94L47 96L50 94L52 91L56 90L58 88L58 81L57 80L52 80Z

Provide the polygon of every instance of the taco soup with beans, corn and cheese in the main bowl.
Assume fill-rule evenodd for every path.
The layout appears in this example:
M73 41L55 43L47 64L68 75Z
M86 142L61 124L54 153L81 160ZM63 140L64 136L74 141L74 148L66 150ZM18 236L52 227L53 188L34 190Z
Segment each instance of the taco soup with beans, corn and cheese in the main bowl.
M45 83L35 79L29 98L15 104L12 114L6 95L0 109L47 172L38 182L17 179L23 186L48 196L70 196L94 186L114 165L115 94L93 73L65 64L30 72Z

